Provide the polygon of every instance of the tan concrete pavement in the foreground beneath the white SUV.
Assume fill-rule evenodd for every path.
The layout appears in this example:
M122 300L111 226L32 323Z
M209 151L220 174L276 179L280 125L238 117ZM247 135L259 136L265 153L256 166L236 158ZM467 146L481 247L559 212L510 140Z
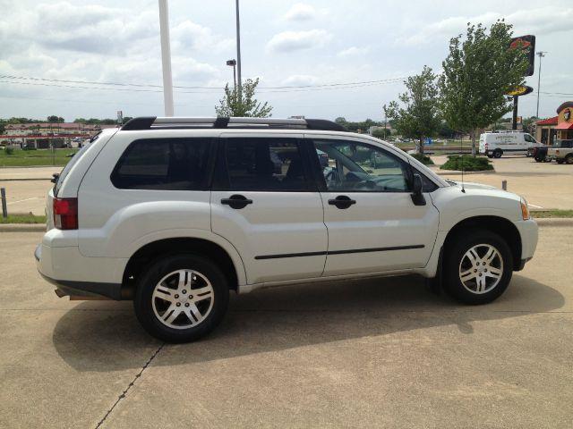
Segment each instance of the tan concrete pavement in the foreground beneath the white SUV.
M147 336L131 303L57 299L40 237L0 233L2 427L573 425L573 228L542 228L491 305L416 277L260 290L185 345Z

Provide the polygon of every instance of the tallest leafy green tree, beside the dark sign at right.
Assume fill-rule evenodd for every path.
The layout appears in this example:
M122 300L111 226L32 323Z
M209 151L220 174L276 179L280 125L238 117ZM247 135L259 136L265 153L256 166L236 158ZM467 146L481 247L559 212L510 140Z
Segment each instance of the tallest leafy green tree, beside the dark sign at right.
M527 69L526 54L509 49L510 24L497 21L486 30L468 23L464 40L451 38L440 76L440 110L450 127L469 133L474 156L480 130L511 111L506 94L524 84Z

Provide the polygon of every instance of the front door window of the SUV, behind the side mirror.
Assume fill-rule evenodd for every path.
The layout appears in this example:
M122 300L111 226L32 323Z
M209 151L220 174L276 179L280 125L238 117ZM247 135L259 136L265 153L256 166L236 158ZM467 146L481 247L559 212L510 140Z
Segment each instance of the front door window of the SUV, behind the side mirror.
M409 165L379 147L345 140L314 140L331 192L407 192ZM326 154L327 159L324 159Z

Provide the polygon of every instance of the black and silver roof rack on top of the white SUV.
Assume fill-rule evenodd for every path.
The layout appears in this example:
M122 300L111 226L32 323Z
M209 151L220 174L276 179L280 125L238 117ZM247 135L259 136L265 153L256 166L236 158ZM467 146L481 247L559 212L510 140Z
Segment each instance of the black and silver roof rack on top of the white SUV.
M172 129L282 129L347 131L337 122L325 119L275 119L275 118L184 118L141 116L126 122L122 130L172 130Z

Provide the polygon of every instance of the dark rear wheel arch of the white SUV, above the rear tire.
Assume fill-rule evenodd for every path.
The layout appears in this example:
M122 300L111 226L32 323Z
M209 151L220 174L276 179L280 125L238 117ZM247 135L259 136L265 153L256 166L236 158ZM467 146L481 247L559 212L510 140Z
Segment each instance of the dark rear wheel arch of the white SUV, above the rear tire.
M125 265L122 278L122 299L133 299L138 276L152 261L159 257L179 254L210 258L227 276L229 289L238 290L239 285L244 283L244 266L242 263L238 266L239 263L233 258L236 259L238 255L232 257L230 253L220 244L202 238L173 237L150 241L138 248Z

